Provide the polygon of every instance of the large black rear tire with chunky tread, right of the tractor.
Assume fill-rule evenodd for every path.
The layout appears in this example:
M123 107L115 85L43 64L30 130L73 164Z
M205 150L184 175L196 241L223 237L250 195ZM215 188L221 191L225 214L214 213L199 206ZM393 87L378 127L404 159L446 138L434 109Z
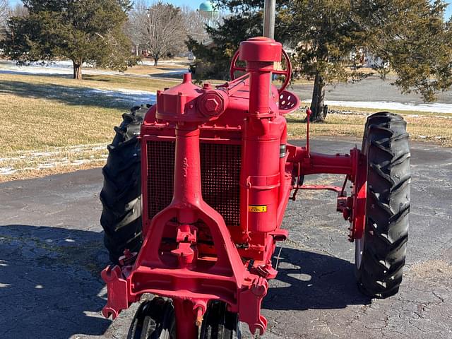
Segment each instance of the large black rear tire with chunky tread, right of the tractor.
M399 290L408 241L410 145L403 118L372 114L362 151L367 155L367 203L364 242L359 249L356 242L357 283L365 295L386 298Z

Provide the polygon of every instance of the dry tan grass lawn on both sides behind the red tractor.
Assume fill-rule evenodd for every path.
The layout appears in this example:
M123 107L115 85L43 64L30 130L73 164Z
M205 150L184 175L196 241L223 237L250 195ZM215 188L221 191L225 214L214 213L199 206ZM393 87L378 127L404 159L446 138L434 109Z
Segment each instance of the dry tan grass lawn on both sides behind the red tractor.
M83 81L73 81L64 76L0 74L0 182L103 165L113 128L133 103L126 90L155 92L172 85L173 81L132 76L86 75ZM147 101L148 93L142 97ZM150 95L149 101L153 99ZM350 111L353 114L330 114L325 123L312 124L312 136L361 138L366 114L377 110ZM452 117L399 113L408 121L413 140L452 145ZM302 119L301 111L287 117L290 138L304 138Z

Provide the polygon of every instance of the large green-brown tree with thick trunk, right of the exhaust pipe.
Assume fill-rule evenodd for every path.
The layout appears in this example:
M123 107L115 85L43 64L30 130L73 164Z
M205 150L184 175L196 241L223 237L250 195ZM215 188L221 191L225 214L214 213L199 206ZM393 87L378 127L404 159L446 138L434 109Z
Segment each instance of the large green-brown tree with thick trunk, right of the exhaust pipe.
M314 79L311 120L323 121L325 87L337 81L359 81L350 71L362 48L386 61L382 77L395 71L403 92L425 101L450 86L451 41L444 29L444 2L429 0L298 0L285 9L285 20L297 41L298 76ZM306 20L309 18L309 20Z

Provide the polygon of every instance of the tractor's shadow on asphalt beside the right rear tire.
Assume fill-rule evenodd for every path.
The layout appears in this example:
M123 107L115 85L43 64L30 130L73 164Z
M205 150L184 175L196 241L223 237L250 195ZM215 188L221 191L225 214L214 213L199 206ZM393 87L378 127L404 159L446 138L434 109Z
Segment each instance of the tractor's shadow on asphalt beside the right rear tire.
M357 288L354 266L333 256L283 248L278 276L270 283L263 307L275 310L343 309L347 305L370 304L371 299Z

